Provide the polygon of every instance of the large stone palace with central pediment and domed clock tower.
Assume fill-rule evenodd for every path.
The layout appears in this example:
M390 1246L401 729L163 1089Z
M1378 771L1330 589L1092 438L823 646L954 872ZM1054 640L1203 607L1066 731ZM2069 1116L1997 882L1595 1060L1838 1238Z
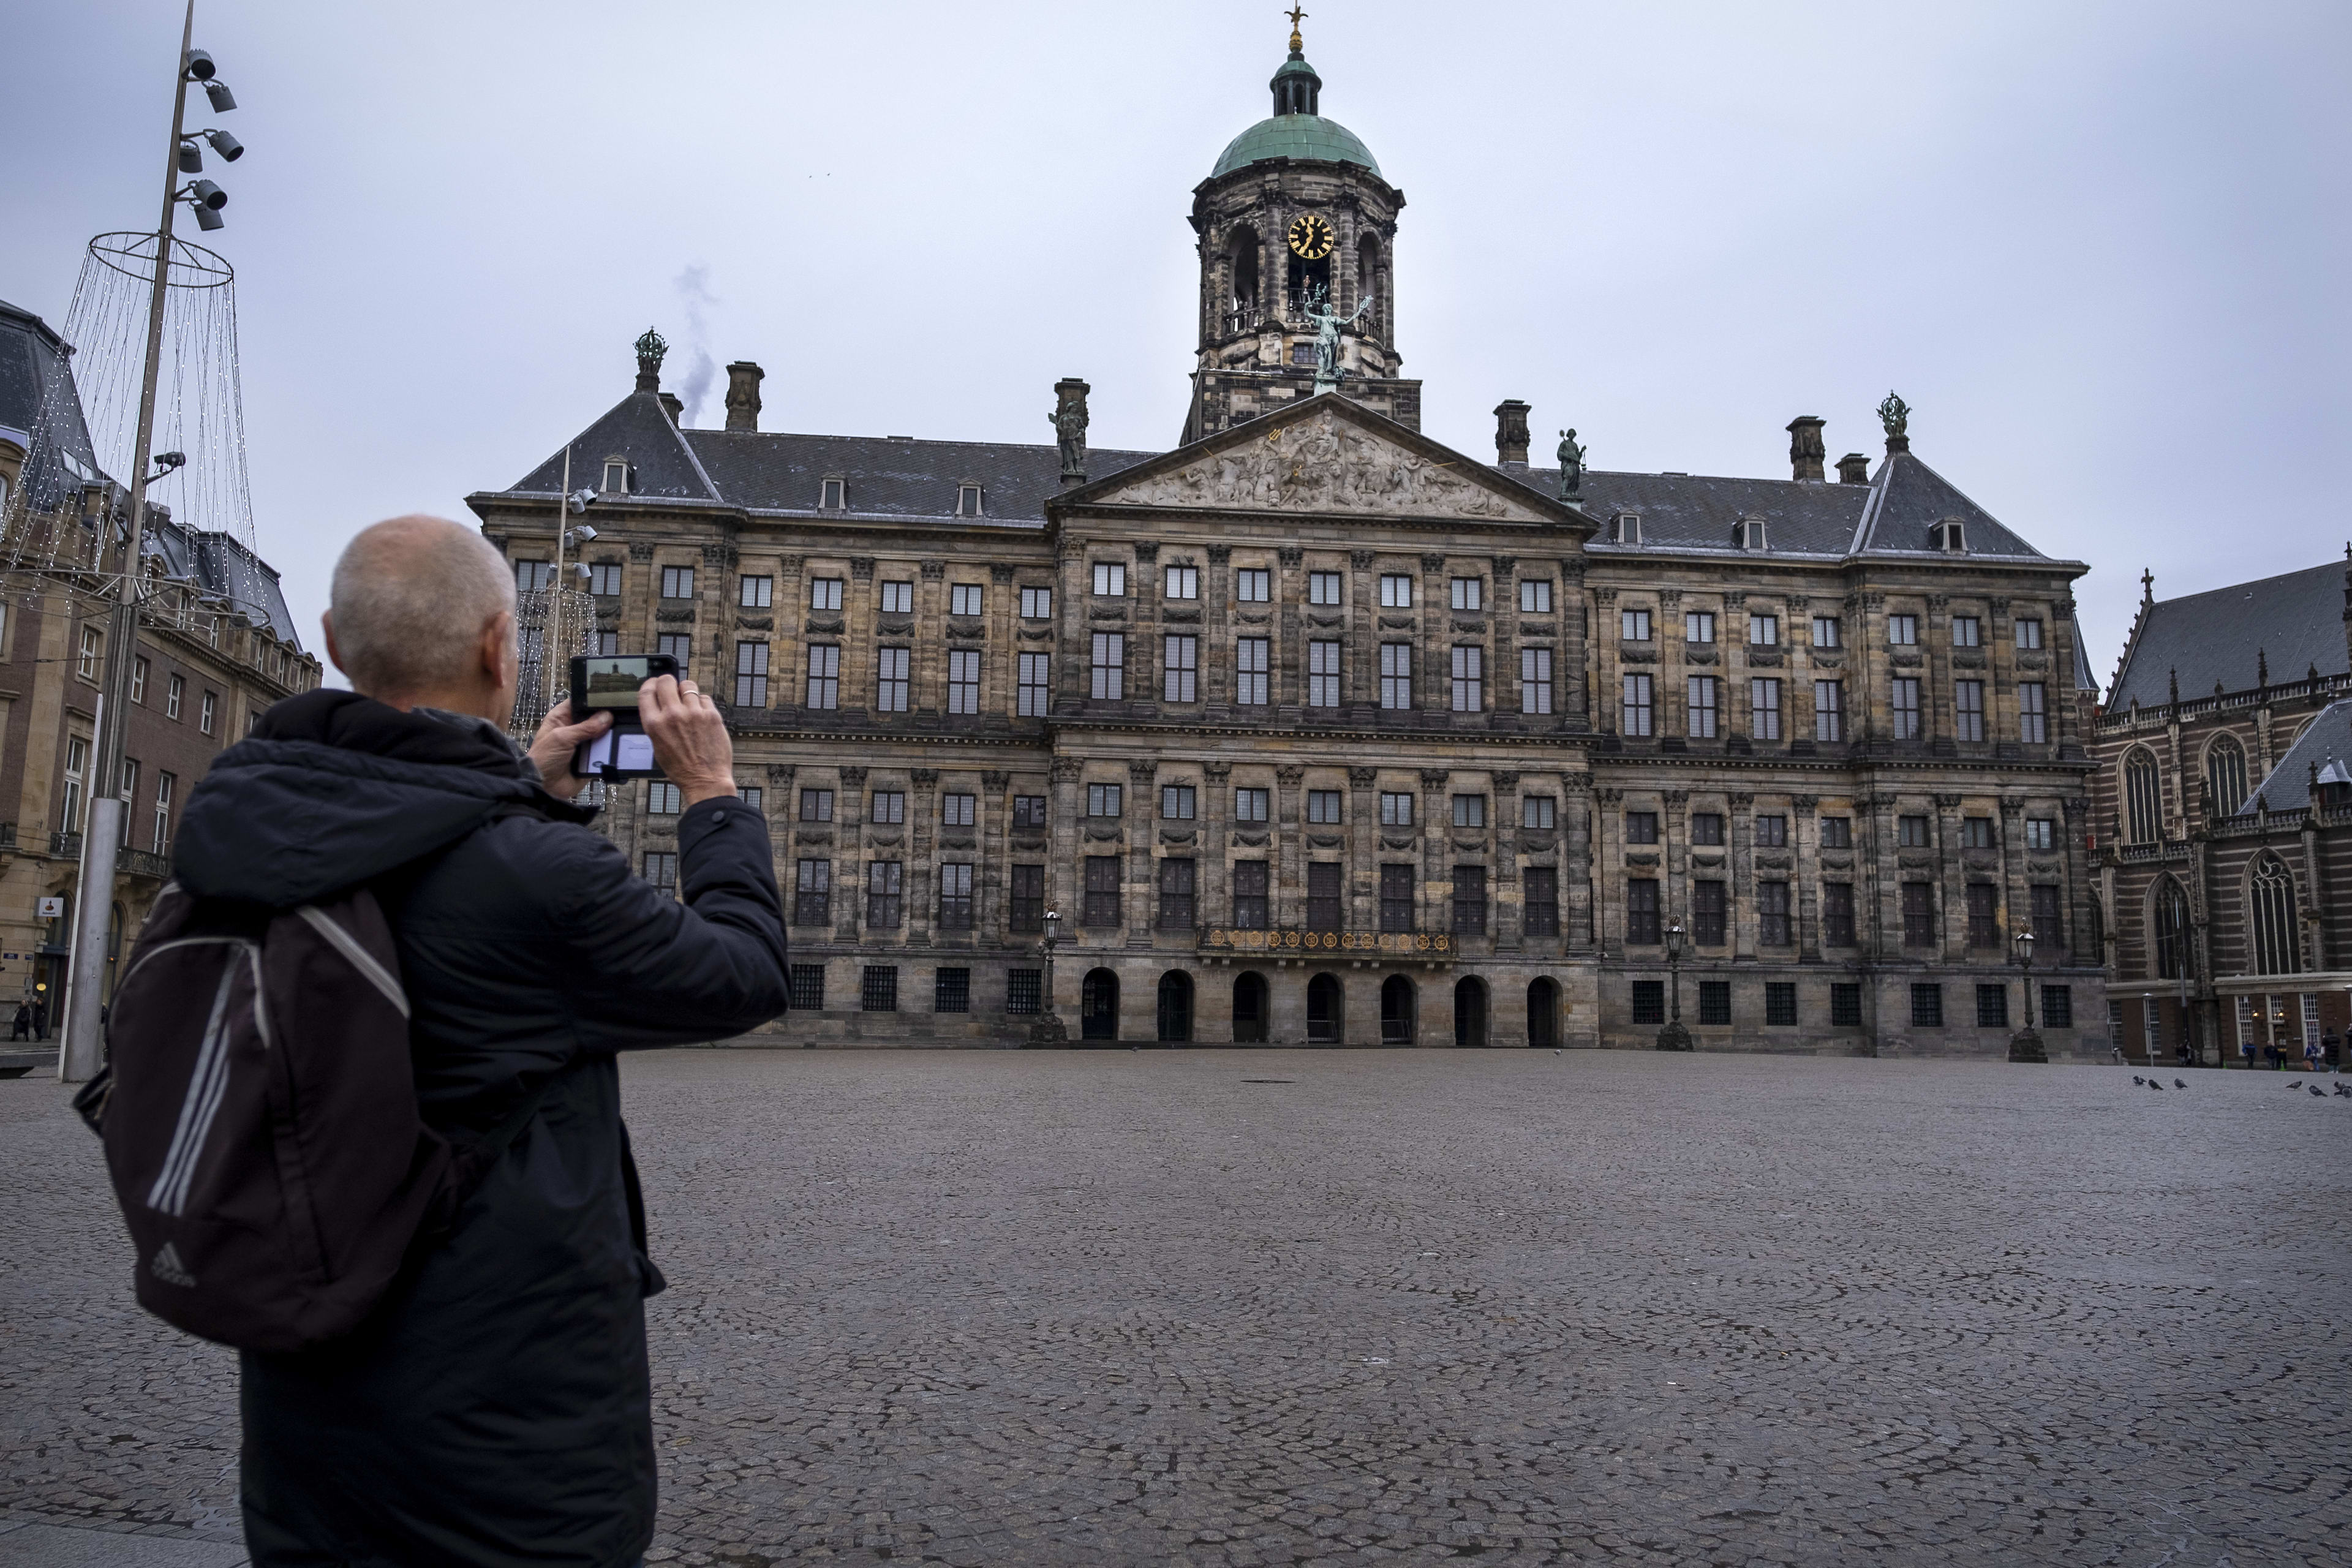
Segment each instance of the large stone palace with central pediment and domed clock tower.
M2107 1053L2082 562L1910 449L1785 480L1529 463L1421 433L1404 193L1275 113L1192 193L1171 451L680 425L663 343L468 498L527 590L564 470L607 651L729 698L821 1041ZM1776 421L1778 423L1778 421ZM569 571L569 564L567 564ZM609 832L675 879L677 792ZM1051 940L1049 940L1051 929ZM2037 936L2032 971L2013 936ZM1679 961L1675 961L1679 954ZM2030 987L2030 997L2027 997Z

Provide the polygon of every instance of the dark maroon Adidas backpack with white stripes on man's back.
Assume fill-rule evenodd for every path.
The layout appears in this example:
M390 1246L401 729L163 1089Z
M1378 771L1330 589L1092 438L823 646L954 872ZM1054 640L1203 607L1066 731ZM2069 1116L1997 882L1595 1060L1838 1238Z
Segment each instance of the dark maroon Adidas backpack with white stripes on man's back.
M543 1093L473 1145L423 1124L374 891L268 910L172 884L115 987L108 1067L75 1107L106 1140L139 1305L282 1352L350 1333Z

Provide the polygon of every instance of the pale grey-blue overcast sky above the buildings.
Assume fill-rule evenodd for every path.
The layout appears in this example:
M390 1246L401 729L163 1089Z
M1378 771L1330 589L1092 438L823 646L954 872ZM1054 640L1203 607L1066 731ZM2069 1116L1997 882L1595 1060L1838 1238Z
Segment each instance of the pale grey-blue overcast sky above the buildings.
M0 299L64 324L153 228L179 0L9 21ZM1160 7L202 0L247 146L238 266L261 552L318 644L393 512L470 520L670 339L767 367L762 428L1171 447L1190 190L1268 113L1272 0ZM1788 475L1783 425L1912 449L2138 599L2352 536L2352 7L1315 0L1322 108L1409 205L1423 428L1573 423L1595 468ZM701 397L696 397L701 393ZM1548 449L1548 442L1538 442Z

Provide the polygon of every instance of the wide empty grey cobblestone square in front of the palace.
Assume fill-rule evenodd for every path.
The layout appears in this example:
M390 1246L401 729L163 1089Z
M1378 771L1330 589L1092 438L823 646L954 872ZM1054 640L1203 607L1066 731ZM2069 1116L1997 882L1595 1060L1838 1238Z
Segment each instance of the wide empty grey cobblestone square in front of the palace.
M654 1561L2345 1563L2352 1100L2171 1079L635 1058ZM233 1540L233 1356L0 1147L0 1514Z

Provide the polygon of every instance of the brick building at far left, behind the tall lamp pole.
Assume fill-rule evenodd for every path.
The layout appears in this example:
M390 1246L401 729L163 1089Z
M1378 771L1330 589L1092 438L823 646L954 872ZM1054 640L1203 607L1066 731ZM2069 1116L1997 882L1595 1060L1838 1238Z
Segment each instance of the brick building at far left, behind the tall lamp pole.
M9 571L0 597L0 1004L9 1013L19 999L66 990L82 806L101 788L92 752L113 602L99 597L108 592L99 567L115 562L96 541L125 538L125 501L89 449L71 348L0 301L0 541L12 559L45 562ZM71 531L75 548L24 548L49 529ZM320 679L278 574L238 538L183 529L151 505L146 574L108 964L162 891L179 809L212 757L263 708ZM54 1006L42 1011L54 1034L61 1020Z

